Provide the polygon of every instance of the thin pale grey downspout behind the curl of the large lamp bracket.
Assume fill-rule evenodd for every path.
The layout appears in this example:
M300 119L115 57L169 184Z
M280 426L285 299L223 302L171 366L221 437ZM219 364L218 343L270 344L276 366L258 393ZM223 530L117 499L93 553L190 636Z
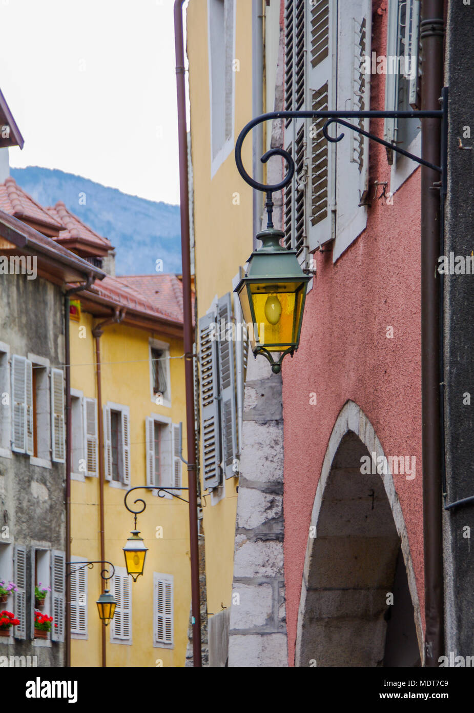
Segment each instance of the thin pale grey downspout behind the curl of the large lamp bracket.
M252 116L263 114L263 6L262 0L252 0ZM272 108L273 111L273 108ZM255 180L263 183L263 164L260 158L264 154L263 123L252 130L252 170ZM254 246L257 250L258 232L262 230L262 193L253 190L253 225Z

